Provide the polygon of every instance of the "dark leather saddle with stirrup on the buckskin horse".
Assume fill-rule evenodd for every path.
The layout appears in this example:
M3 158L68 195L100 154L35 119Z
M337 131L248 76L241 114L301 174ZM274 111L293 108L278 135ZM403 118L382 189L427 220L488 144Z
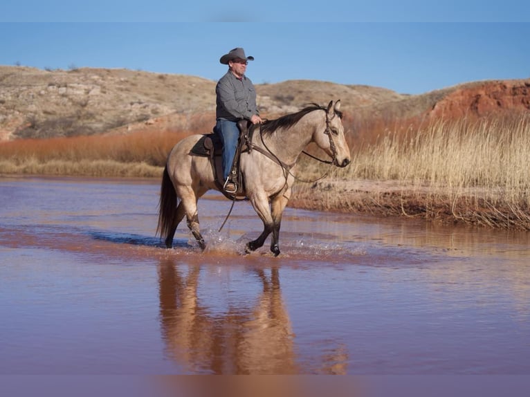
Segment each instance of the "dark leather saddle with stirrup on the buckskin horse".
M234 156L234 161L230 169L230 179L237 186L235 193L225 192L223 185L223 141L221 136L217 133L214 127L212 133L205 133L197 141L197 143L190 150L192 156L204 156L210 158L210 165L214 173L215 185L221 193L223 193L230 200L244 200L245 199L245 182L239 170L239 158L241 153L250 149L250 142L255 131L255 125L251 124L248 120L239 120L237 122L239 128L239 140ZM250 128L249 128L250 127Z

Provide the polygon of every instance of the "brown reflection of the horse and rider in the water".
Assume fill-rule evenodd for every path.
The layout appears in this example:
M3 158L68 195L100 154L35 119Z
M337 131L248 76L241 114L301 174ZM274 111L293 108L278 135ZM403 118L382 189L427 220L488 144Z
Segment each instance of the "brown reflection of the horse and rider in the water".
M222 314L212 314L197 295L201 268L197 264L181 269L170 259L159 268L161 329L169 355L187 373L304 373L296 361L278 268L271 268L270 274L253 270L263 287L255 304ZM344 364L337 362L345 362L345 351L337 352L342 357L320 358L325 368L318 372L344 373Z

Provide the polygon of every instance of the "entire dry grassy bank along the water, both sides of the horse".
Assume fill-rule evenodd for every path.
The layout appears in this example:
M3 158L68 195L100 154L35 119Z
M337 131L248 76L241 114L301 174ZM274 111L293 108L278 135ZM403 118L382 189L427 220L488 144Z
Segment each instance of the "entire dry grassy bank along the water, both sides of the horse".
M529 116L414 127L378 121L361 133L346 119L345 127L351 165L337 169L302 158L300 178L329 176L297 182L290 205L530 229ZM3 142L0 174L159 177L167 153L186 135Z

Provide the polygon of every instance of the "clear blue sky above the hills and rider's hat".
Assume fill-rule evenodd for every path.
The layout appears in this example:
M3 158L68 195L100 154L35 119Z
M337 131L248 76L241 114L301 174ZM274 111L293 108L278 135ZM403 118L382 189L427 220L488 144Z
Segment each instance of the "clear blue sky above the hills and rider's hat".
M323 80L414 94L530 77L524 20L530 21L530 6L521 1L403 1L398 7L373 0L371 8L307 1L297 10L294 2L273 0L260 8L245 3L237 15L228 3L206 7L203 1L21 3L0 12L2 65L129 68L217 80L226 71L219 57L242 46L255 57L247 70L255 84ZM293 15L304 21L283 21Z

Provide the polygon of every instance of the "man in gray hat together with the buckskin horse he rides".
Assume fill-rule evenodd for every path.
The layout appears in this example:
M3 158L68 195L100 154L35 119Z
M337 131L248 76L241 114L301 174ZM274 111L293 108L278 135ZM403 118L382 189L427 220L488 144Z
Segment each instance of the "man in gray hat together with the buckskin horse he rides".
M230 178L232 163L239 139L239 120L248 120L261 127L249 133L248 150L239 158L239 190L254 207L263 222L263 232L249 241L246 252L262 247L272 234L271 252L280 255L279 237L282 213L291 197L298 157L311 142L331 158L327 163L346 167L351 154L344 136L340 100L327 106L310 104L308 107L276 120L262 120L256 107L256 91L245 76L246 65L253 57L246 57L243 48L234 48L223 55L221 64L228 64L228 72L217 83L216 135L223 142L223 178L221 187L216 167L208 156L194 152L204 135L196 134L180 140L167 156L162 176L158 204L157 233L171 248L176 228L186 218L199 247L206 244L199 228L197 201L210 189L238 192ZM256 130L256 129L254 129ZM204 145L205 146L205 145Z

